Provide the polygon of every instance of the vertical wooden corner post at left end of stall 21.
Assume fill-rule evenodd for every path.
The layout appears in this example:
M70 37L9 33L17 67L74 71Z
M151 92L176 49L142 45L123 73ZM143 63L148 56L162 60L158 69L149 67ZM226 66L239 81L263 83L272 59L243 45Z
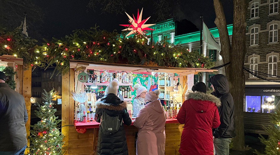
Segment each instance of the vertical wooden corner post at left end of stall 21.
M71 70L71 69L70 69ZM69 153L69 74L66 73L65 75L62 76L62 121L61 125L64 126L61 131L63 135L65 136L63 141L65 142L63 147L65 147L65 155L68 155Z

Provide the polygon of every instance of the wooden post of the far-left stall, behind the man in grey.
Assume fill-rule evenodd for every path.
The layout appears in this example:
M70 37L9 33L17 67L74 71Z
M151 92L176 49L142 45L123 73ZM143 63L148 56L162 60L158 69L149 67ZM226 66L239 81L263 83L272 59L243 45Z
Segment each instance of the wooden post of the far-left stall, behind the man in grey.
M28 114L28 120L25 124L27 137L30 136L30 109L31 109L31 66L28 70L23 71L22 80L22 95L25 100L25 106ZM27 138L27 146L30 144L30 139ZM29 149L26 148L25 153L29 153Z

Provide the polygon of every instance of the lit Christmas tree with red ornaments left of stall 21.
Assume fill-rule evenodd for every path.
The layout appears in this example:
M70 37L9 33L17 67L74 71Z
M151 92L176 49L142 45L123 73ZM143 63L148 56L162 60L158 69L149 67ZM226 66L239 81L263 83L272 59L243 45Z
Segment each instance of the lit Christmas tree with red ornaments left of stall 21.
M30 131L30 155L62 155L64 153L62 145L64 144L64 135L59 132L57 120L54 116L56 109L52 106L51 100L56 92L51 90L43 93L44 101L35 111L35 115L41 118L41 121L31 126Z

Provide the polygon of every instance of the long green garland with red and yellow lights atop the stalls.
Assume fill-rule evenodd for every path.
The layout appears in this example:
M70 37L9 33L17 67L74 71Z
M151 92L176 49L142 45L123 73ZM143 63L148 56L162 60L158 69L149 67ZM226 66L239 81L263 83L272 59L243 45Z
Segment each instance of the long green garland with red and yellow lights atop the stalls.
M49 67L65 74L69 60L85 60L119 64L151 64L166 67L211 68L214 64L198 51L189 52L187 47L174 45L166 40L147 45L140 35L123 38L123 34L91 29L78 29L65 38L46 41L42 46L26 38L20 29L0 36L0 55L8 54L24 58L26 65ZM18 49L18 50L16 50ZM55 72L54 71L54 72Z

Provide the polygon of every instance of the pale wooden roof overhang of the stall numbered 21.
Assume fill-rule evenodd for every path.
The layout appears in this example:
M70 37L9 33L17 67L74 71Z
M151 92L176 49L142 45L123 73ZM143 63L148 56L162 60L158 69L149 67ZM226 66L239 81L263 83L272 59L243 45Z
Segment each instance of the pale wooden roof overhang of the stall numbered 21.
M177 73L181 76L193 74L196 72L214 72L217 70L203 69L203 68L177 68L177 67L160 67L150 65L133 65L133 64L113 64L106 62L92 62L82 60L70 60L70 68L78 69L86 67L86 69L94 70L113 70L113 71L127 71L127 72L160 72L160 73Z

